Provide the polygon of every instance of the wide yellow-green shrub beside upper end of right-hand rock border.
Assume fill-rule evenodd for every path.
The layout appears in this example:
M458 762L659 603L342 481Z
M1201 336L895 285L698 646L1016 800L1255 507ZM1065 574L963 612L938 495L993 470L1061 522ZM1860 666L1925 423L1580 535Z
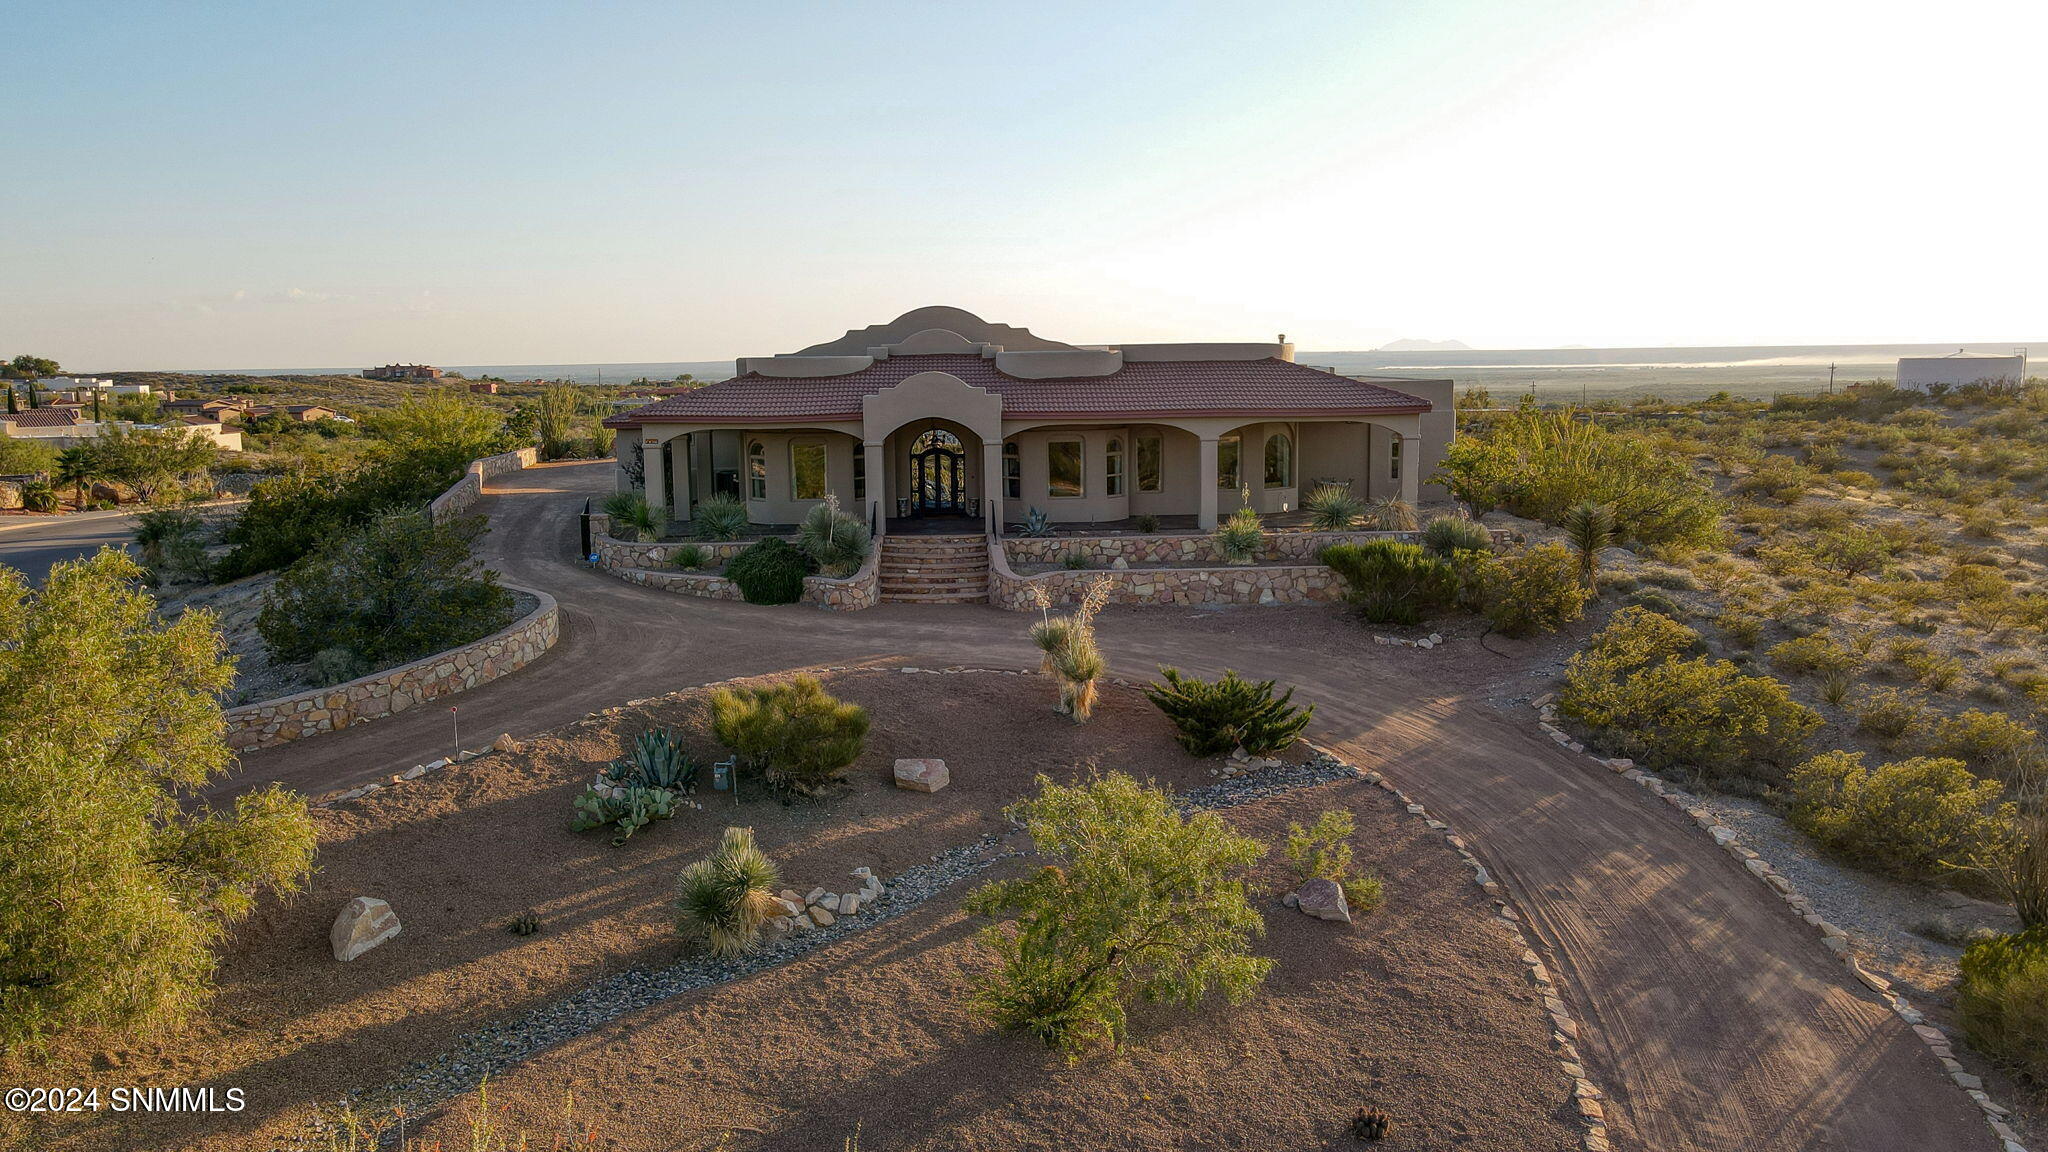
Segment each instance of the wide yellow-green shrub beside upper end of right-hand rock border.
M1559 711L1602 746L1651 767L1686 765L1708 777L1802 758L1821 715L1769 676L1726 660L1681 658L1700 633L1628 607L1565 666Z

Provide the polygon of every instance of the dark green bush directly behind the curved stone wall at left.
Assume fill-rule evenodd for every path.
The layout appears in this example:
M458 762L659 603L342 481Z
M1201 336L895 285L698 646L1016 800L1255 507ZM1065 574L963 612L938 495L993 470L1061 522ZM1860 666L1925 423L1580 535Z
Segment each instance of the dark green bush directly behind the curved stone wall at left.
M483 527L483 517L403 510L371 519L264 592L264 648L276 660L342 648L385 668L498 631L512 623L512 592L473 556Z

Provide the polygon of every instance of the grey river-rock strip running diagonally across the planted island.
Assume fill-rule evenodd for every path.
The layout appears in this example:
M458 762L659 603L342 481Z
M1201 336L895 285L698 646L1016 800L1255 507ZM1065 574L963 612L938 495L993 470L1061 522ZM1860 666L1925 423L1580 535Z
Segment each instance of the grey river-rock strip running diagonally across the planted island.
M1268 795L1358 775L1358 769L1327 752L1317 752L1300 765L1253 771L1182 793L1182 808L1188 812L1235 808ZM473 1091L485 1076L496 1076L539 1052L590 1033L627 1013L682 992L727 984L741 976L788 963L842 937L889 922L956 883L981 875L995 863L1022 855L1028 855L1028 851L1018 847L1014 834L981 836L971 845L936 853L932 863L889 877L887 892L872 904L872 916L860 916L858 920L842 918L825 929L813 927L743 957L692 955L668 968L621 972L524 1017L465 1033L446 1056L401 1070L393 1082L360 1093L352 1105L358 1109L369 1107L371 1111L403 1105L408 1113L420 1115L438 1103Z

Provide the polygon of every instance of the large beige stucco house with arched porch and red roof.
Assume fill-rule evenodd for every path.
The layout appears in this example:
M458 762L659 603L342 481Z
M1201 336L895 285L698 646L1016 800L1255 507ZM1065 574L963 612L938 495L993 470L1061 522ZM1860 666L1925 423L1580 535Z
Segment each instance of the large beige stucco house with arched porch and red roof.
M1075 346L920 307L733 379L608 416L618 488L688 519L733 492L797 523L825 496L889 517L1004 525L1284 512L1317 484L1409 502L1456 422L1448 379L1352 379L1253 344Z

